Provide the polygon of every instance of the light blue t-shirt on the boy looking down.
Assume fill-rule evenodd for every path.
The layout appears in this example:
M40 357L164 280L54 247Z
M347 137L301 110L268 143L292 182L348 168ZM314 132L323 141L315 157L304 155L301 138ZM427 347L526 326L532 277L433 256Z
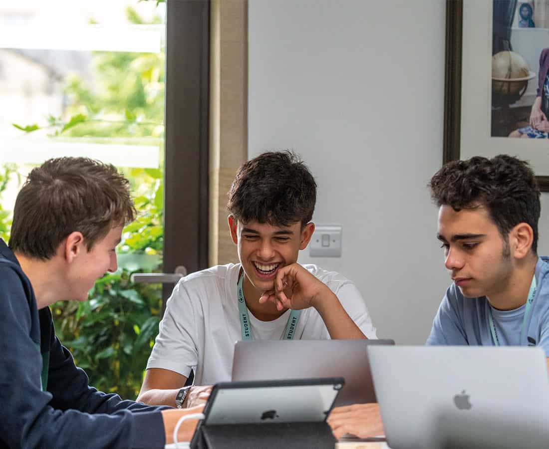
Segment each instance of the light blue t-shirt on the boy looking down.
M427 345L494 346L488 320L488 310L492 308L501 345L540 346L549 357L549 257L537 260L535 276L536 295L526 323L528 332L522 336L522 341L524 305L514 310L496 310L486 296L465 298L452 284L436 313Z

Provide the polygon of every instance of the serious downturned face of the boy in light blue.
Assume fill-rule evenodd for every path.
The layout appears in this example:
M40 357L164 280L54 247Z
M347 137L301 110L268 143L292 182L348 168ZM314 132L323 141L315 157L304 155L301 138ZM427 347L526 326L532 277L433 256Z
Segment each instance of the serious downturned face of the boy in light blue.
M444 248L444 265L464 296L490 297L507 290L513 258L484 207L456 212L442 205L437 237Z

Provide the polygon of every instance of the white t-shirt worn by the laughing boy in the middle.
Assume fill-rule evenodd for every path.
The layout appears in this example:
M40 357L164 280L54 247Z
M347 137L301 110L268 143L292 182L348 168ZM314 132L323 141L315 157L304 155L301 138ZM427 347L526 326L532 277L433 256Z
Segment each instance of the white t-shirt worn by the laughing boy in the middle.
M368 338L377 338L366 304L354 283L316 265L304 267L328 285ZM189 274L177 283L167 301L147 369L170 369L188 377L195 368L195 385L231 380L234 343L242 340L237 300L239 271L239 263L218 265ZM260 321L250 312L251 335L257 340L280 339L289 314L288 310L273 321ZM315 308L301 311L294 338L330 338Z

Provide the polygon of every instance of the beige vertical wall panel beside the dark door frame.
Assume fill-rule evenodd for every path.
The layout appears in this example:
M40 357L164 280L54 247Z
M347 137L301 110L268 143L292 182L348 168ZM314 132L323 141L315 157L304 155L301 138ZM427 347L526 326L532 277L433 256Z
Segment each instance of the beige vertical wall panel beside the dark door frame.
M248 158L248 2L211 3L209 262L237 262L227 192Z

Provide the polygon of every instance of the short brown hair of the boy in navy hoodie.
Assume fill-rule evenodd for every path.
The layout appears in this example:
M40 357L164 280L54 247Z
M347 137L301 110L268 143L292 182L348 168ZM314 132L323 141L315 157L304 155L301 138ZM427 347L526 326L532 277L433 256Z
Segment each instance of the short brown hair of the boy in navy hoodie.
M48 260L71 232L86 247L133 221L130 183L116 167L88 158L49 159L32 169L13 211L9 248Z

